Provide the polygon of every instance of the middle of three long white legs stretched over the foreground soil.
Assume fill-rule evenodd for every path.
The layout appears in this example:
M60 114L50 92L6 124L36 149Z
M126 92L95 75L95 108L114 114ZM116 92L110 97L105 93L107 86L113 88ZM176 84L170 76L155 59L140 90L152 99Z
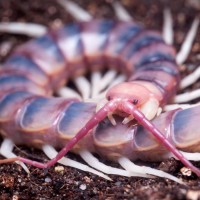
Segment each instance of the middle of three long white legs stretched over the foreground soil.
M87 150L81 150L79 152L79 155L81 156L81 158L91 167L105 173L105 174L115 174L115 175L119 175L119 176L141 176L141 177L148 177L146 175L142 175L142 174L137 174L137 173L130 173L127 172L126 170L123 169L118 169L115 167L111 167L108 165L105 165L103 163L101 163L96 157L94 157L89 151Z

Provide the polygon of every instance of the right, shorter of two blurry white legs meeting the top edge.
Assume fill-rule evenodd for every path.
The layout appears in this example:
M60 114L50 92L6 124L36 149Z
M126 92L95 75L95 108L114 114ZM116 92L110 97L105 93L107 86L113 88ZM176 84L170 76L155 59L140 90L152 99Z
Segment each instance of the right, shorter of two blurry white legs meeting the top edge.
M127 10L122 6L122 4L118 1L112 3L112 6L115 10L115 14L119 20L122 21L133 21L131 15L127 12Z

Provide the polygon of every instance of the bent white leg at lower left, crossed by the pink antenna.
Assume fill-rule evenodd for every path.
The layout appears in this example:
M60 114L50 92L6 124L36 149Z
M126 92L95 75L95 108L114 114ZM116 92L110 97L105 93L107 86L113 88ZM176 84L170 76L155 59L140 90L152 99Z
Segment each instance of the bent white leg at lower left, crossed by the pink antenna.
M8 159L17 157L17 155L15 155L12 152L13 148L14 148L14 143L12 142L12 140L5 138L0 147L0 154ZM29 169L23 162L20 162L20 161L15 161L15 162L18 165L20 165L25 170L25 172L27 172L28 174L30 173Z

